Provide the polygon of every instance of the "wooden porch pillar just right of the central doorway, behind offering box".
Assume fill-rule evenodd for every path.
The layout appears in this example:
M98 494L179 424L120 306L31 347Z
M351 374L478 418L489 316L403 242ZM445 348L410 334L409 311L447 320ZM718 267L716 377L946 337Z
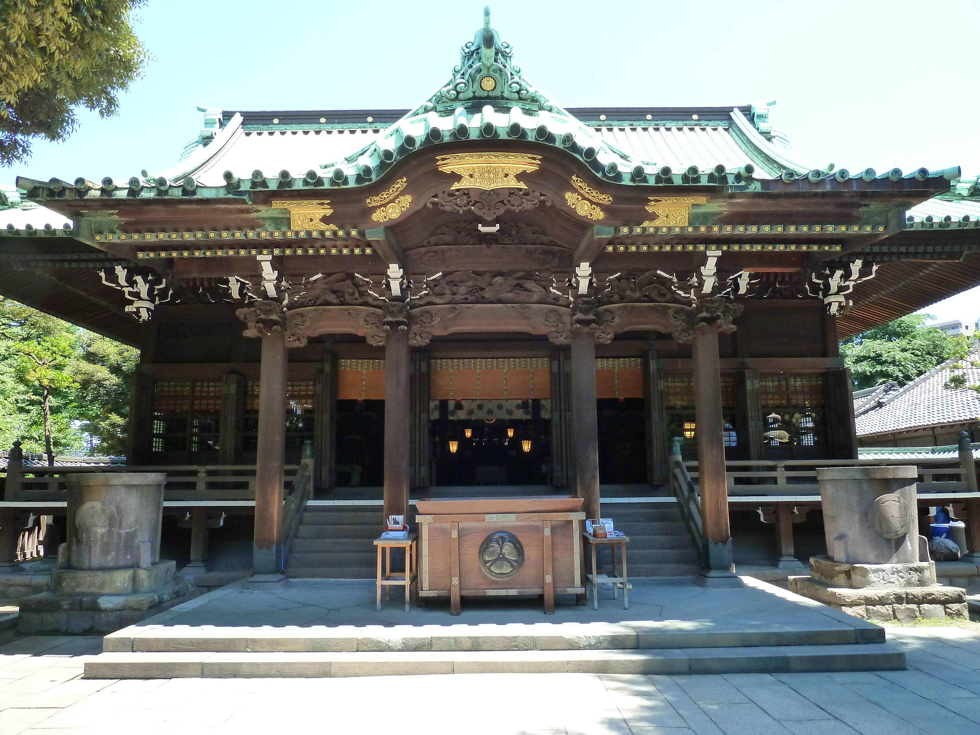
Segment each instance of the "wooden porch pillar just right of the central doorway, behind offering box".
M719 388L720 390L720 388ZM575 495L586 517L599 517L599 428L596 415L596 340L591 329L571 331L571 420Z

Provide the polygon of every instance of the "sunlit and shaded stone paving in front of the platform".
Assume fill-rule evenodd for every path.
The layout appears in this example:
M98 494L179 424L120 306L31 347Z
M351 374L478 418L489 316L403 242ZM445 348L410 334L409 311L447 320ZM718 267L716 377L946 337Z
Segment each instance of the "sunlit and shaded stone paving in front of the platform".
M980 632L889 627L907 671L81 679L97 637L0 647L0 733L977 735Z

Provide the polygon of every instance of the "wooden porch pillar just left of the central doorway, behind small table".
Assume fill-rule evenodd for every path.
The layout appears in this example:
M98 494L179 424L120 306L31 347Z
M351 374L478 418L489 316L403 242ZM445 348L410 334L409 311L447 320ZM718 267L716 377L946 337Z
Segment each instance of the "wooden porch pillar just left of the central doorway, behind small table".
M384 517L408 515L411 453L409 332L391 329L384 343Z

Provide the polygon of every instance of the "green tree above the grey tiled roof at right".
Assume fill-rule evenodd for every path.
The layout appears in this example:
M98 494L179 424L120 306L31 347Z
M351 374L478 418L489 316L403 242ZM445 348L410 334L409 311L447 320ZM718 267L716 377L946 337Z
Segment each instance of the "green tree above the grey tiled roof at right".
M929 315L910 314L841 343L844 363L855 387L870 388L889 380L905 385L956 354L956 338L934 326Z

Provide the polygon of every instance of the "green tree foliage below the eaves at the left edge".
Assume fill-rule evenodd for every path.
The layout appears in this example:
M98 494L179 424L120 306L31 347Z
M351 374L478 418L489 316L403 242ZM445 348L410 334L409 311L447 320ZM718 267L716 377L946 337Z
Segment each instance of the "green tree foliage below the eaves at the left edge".
M82 448L122 455L129 376L139 353L9 299L0 299L0 447Z

